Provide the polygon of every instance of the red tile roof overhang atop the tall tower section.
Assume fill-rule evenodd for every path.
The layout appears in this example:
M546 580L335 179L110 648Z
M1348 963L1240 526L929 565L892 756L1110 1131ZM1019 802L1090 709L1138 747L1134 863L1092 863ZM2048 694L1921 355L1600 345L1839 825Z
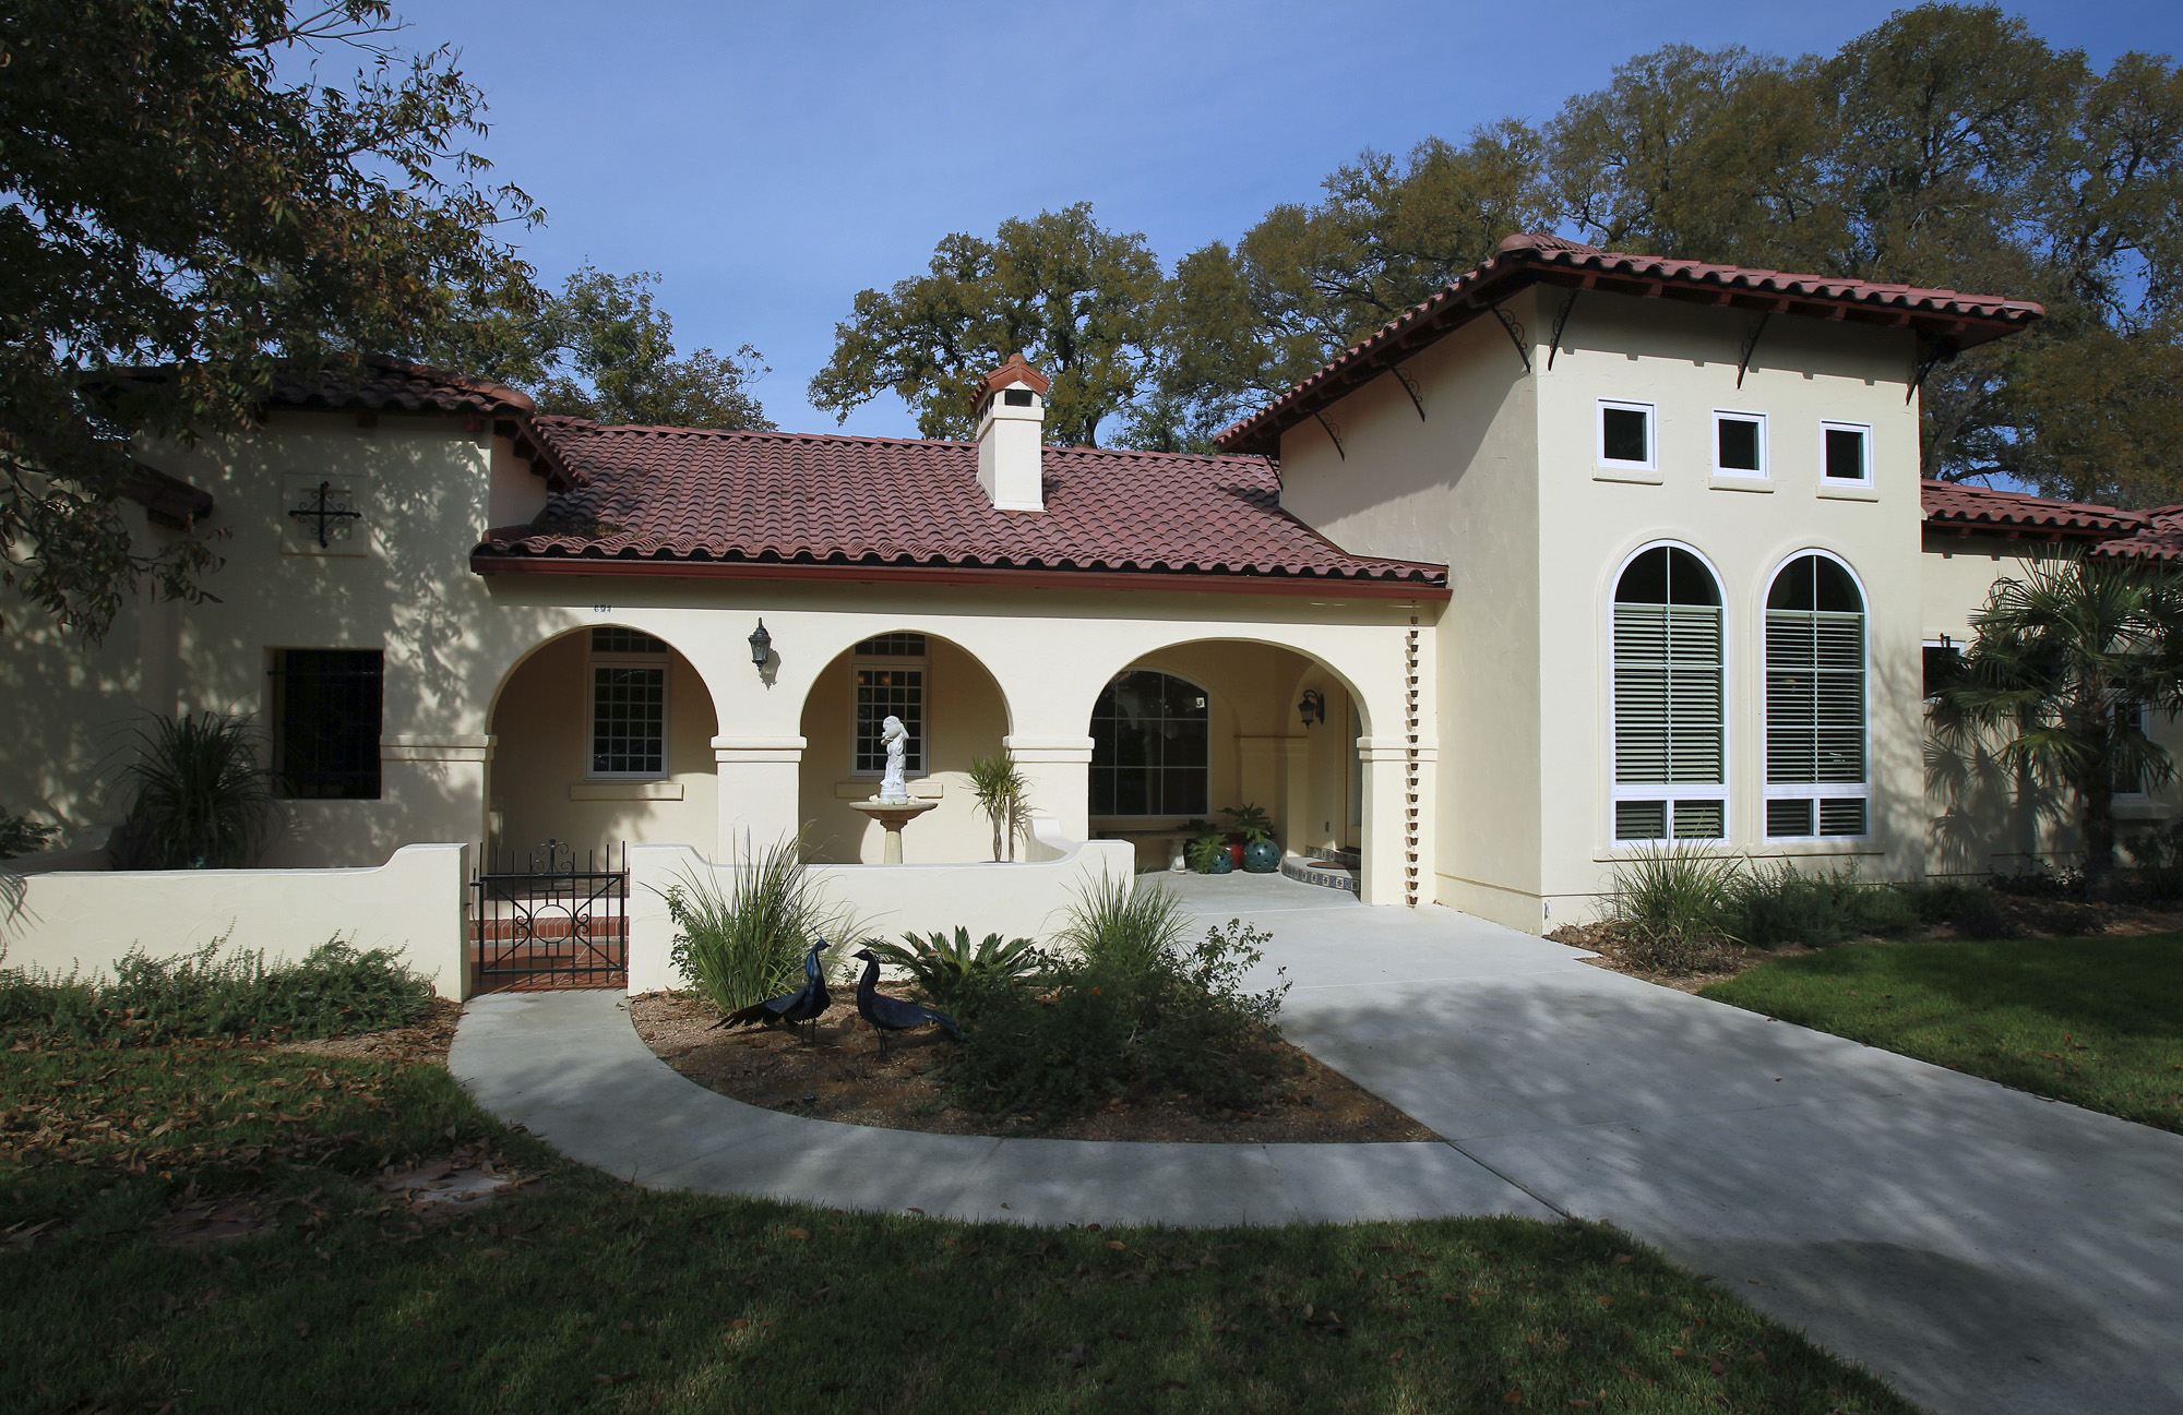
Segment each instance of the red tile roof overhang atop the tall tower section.
M1631 255L1600 251L1559 236L1524 234L1511 236L1491 260L1460 275L1439 295L1410 306L1347 354L1214 437L1214 445L1222 452L1277 456L1281 432L1532 284L1681 299L1759 314L1810 314L1910 328L1917 330L1928 354L1943 360L1971 345L2028 328L2045 314L2043 306L2028 299Z

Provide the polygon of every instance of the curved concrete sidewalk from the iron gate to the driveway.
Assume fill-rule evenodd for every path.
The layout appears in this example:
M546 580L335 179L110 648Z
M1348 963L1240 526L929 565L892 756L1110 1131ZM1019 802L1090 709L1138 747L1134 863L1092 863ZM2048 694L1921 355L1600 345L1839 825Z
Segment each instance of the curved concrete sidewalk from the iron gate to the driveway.
M502 1120L646 1188L1013 1223L1559 1218L1436 1142L995 1140L784 1116L668 1068L620 991L474 998L448 1068Z

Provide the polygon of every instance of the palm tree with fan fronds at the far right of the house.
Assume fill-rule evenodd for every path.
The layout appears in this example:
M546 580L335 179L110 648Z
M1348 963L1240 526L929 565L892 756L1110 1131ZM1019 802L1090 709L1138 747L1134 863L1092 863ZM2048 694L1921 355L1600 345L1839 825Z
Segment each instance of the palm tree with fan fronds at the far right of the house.
M2183 708L2183 570L2045 557L1995 583L1971 629L1934 734L1963 751L1973 734L2013 732L2000 760L2074 797L2085 889L2100 895L2115 871L2115 784L2150 790L2176 773L2142 714Z

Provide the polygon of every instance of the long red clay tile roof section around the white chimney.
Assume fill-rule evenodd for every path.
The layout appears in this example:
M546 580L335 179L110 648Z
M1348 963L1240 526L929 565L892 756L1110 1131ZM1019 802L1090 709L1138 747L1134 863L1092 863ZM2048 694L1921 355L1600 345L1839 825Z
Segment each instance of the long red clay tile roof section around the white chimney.
M583 485L533 524L491 531L472 557L478 570L891 566L1447 594L1445 566L1345 555L1281 511L1260 459L1046 448L1046 511L995 511L976 443L574 417L537 428Z

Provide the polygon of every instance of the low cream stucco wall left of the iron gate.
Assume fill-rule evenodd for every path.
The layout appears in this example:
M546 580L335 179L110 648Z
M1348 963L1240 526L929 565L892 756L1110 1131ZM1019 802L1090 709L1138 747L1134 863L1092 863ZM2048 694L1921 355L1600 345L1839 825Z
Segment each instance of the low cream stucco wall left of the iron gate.
M220 935L284 963L341 935L461 998L467 860L463 845L404 845L369 869L0 871L0 965L111 976L131 948L168 959Z

